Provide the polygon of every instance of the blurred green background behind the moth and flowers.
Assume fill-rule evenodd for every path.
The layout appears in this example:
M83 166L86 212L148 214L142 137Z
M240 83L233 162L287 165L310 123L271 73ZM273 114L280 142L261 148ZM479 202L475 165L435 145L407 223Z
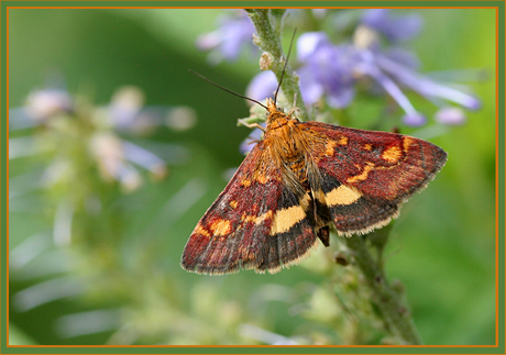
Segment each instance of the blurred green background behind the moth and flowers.
M52 243L54 197L36 189L12 193L34 184L22 178L41 169L41 163L33 157L10 162L11 345L345 342L343 332L350 330L343 330L328 279L333 275L329 268L337 266L326 262L336 240L276 275L210 277L179 267L188 236L226 186L226 170L241 163L238 147L250 132L235 124L248 115L242 99L187 71L238 92L258 71L256 59L245 55L211 66L196 48L196 37L213 31L221 12L9 11L11 108L23 106L31 90L44 88L48 79L64 77L70 93L84 93L95 104L107 104L118 88L133 85L144 92L146 106L186 106L197 113L191 130L163 126L148 138L132 138L176 144L186 153L168 163L162 181L145 179L128 195L113 186L112 192L101 190L110 200L94 223L85 223L88 244ZM488 78L471 84L483 109L469 113L464 125L431 138L449 160L429 188L404 206L386 251L386 270L405 285L426 344L494 344L495 12L417 12L425 27L411 47L424 73L473 68L485 69ZM433 111L424 100L414 103L421 112ZM365 104L353 110L359 117L370 112ZM424 137L422 129L402 131L417 132ZM10 136L34 134L37 130ZM153 146L157 153L162 145ZM101 184L98 189L109 186ZM108 228L117 236L102 243ZM45 236L33 238L41 233ZM102 244L112 247L98 251ZM25 262L14 267L12 254Z

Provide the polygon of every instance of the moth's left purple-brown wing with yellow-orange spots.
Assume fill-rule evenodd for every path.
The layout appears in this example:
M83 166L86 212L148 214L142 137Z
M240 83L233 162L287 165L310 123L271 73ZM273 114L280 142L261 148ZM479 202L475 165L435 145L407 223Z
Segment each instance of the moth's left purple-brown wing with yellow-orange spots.
M298 262L316 237L299 197L283 184L260 142L195 228L183 268L229 274L241 268L278 271Z

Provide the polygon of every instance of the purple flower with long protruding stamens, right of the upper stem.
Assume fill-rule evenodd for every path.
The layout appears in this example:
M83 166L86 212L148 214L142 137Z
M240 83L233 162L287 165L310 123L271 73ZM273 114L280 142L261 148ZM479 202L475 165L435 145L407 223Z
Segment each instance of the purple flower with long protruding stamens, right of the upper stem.
M369 77L406 112L403 121L408 125L421 125L426 118L417 112L402 88L436 103L453 101L469 110L481 106L474 96L420 75L418 60L411 54L396 47L383 51L375 32L369 27L356 29L353 44L333 45L321 32L305 33L299 37L297 49L302 66L297 71L306 103L326 97L330 107L345 108L355 96L358 79Z

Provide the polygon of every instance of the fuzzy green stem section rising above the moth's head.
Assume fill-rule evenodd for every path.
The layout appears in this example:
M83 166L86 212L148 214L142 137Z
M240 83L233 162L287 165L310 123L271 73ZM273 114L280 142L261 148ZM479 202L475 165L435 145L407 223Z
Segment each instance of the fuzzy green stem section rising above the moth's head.
M255 44L264 52L271 54L273 58L271 70L276 75L277 80L279 81L283 75L283 69L285 67L286 57L283 53L282 42L280 42L280 21L282 15L271 16L270 11L272 10L246 10L250 14L250 19L253 22L257 38ZM276 22L277 21L277 22ZM273 22L274 26L273 26ZM277 30L275 30L275 29ZM308 113L306 111L306 106L302 101L302 96L300 95L300 89L298 86L298 78L295 76L289 64L286 66L285 75L283 77L282 90L285 93L288 102L294 106L295 98L297 98L297 108L299 109L301 121L308 120Z

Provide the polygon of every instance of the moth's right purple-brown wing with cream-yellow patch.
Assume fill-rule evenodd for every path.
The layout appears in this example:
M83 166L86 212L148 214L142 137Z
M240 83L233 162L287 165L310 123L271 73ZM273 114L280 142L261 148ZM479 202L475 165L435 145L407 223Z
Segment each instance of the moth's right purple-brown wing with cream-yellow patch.
M397 217L399 206L421 190L447 160L427 141L387 132L305 122L317 136L310 155L324 202L340 234L369 233Z

